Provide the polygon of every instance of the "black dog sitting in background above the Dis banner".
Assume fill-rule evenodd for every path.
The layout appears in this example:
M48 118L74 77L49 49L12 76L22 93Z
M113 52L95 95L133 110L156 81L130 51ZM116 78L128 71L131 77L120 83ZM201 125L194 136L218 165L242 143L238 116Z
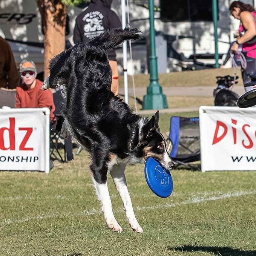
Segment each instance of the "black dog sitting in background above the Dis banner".
M226 75L224 77L217 78L217 88L213 91L214 106L232 106L236 107L236 101L239 95L230 90L230 87L237 84L238 76L231 77Z

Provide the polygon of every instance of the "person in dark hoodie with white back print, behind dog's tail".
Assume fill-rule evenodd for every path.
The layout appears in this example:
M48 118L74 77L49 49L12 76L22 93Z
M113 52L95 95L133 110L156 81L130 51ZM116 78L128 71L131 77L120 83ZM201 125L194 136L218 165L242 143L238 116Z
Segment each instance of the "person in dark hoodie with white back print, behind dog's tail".
M121 28L117 14L110 9L113 0L91 0L88 8L81 12L75 20L74 43L86 43L97 37L105 30ZM107 51L109 64L112 69L111 90L118 94L118 71L115 49Z

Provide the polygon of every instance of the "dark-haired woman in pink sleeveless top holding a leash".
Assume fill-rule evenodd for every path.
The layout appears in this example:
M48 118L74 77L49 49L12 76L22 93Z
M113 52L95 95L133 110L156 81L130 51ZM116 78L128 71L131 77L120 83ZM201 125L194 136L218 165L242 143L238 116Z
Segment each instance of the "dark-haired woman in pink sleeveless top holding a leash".
M236 52L238 45L242 44L242 51L246 54L247 67L242 70L244 84L249 82L248 75L256 74L256 10L253 6L241 1L234 1L229 7L230 15L241 21L239 26L240 37L231 46L231 51ZM252 90L253 86L245 87L245 91Z

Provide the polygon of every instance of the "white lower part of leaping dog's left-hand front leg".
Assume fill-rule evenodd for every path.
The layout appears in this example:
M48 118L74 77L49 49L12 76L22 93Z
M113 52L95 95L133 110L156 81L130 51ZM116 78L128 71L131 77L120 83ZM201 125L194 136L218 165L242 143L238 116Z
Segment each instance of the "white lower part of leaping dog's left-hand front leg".
M109 189L107 187L107 181L104 184L101 184L98 183L94 178L92 178L92 180L94 182L97 198L102 205L101 210L104 214L107 226L113 231L121 233L123 230L113 214L112 203L109 196Z

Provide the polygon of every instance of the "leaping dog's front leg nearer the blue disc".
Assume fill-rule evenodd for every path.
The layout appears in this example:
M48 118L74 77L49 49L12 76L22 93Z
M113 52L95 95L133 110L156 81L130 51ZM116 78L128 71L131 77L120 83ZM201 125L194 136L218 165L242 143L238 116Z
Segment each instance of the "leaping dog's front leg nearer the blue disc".
M130 227L134 231L138 233L142 233L143 229L139 225L135 217L135 214L133 212L132 200L128 192L126 178L124 175L125 167L126 167L126 164L114 165L112 170L110 171L110 175L113 178L118 194L120 195L120 198L123 202L124 211L126 212L126 218L127 218L127 221L129 222Z

